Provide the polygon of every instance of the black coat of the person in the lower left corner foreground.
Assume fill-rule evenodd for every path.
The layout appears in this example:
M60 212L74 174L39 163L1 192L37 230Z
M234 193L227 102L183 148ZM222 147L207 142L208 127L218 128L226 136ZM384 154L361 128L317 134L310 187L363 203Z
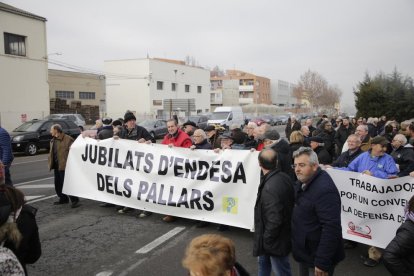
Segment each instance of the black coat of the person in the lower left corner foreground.
M27 274L26 264L35 263L42 255L42 248L39 239L39 229L36 223L37 209L30 205L23 205L17 218L17 228L22 234L20 246L15 248L14 244L7 241L4 246L10 248L23 266Z

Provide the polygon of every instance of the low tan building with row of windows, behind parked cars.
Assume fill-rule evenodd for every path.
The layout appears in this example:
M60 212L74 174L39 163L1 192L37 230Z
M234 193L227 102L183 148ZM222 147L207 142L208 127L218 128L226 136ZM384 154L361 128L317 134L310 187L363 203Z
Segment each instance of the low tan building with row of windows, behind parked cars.
M87 123L106 115L105 76L49 69L50 113L80 113Z

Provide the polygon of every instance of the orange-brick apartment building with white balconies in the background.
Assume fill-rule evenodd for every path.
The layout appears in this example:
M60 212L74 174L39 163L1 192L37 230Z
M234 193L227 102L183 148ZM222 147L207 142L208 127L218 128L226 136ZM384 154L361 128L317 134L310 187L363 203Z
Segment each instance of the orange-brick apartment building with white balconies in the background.
M215 76L211 82L238 80L239 104L271 104L270 79L240 70L227 70L224 76Z

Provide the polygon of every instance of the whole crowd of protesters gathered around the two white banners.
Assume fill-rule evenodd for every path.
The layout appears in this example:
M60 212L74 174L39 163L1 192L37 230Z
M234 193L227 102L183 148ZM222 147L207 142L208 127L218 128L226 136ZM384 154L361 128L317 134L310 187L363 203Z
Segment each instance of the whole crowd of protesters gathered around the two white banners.
M100 121L102 124L97 126L96 139L113 137L138 143L156 143L154 137L144 127L137 125L136 121L135 115L130 111L125 113L124 118L117 120L103 118ZM254 210L253 246L253 255L259 260L259 275L270 275L271 271L277 275L291 275L288 258L291 252L299 263L300 275L333 275L335 266L345 257L344 249L357 246L355 242L342 241L341 199L325 169L360 172L384 179L408 175L414 177L414 123L387 121L385 116L379 119L350 119L328 118L323 115L314 125L312 119L307 119L302 124L293 115L285 129L286 138L280 136L277 127L266 123L258 126L254 122L249 122L244 127L233 125L228 129L209 125L203 130L197 128L194 122L187 121L179 125L177 119L172 118L167 121L167 129L168 133L161 143L169 147L210 149L217 153L229 149L260 152L258 166L261 169L261 179L258 180L260 185ZM50 132L53 139L49 168L54 170L55 189L59 197L55 204L70 202L71 207L76 208L80 205L79 199L62 193L66 159L73 139L64 134L59 125L53 125ZM9 163L3 163L6 172ZM7 181L10 173L4 175L6 184L10 183ZM6 189L3 186L0 187L0 195ZM7 187L12 186L9 184ZM10 209L11 214L16 214L19 208L25 210L24 200L19 202L20 207ZM101 206L114 205L102 203ZM115 207L119 213L133 211L129 207ZM371 247L364 259L365 265L376 266L380 259L384 259L386 267L394 275L411 275L402 271L406 271L404 267L414 265L414 246L412 236L409 236L409 233L413 234L413 208L414 199L411 199L405 210L406 223L398 230L396 238L385 253ZM32 209L32 214L33 212ZM19 214L22 217L24 212L19 211ZM151 214L140 210L138 218ZM163 217L167 223L176 219L174 216ZM18 222L16 218L15 221ZM35 225L35 220L31 223ZM198 222L197 227L208 224ZM228 227L219 225L218 229L227 230ZM35 230L37 231L37 226ZM7 240L7 237L0 238ZM36 254L30 253L34 257L26 260L19 255L21 253L16 250L17 246L13 247L13 243L9 242L9 247L14 250L23 269L25 263L33 262L40 256L40 243L34 243L39 245L36 245L38 249L31 248ZM225 263L224 271L230 273L226 275L243 275L244 269L235 262L234 246L220 236L208 236L192 242L183 261L190 272L198 271L196 275L225 275L202 273L204 270L209 271L205 268L207 263L193 255L195 250L206 250L206 244L221 244L220 250L230 254L228 260L220 257L220 262ZM196 264L197 260L204 264Z

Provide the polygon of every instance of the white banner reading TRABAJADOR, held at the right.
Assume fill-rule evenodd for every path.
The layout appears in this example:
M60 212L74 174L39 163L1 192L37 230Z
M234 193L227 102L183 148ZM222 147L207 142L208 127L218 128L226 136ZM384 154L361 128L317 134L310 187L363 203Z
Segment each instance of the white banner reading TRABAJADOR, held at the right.
M344 239L385 248L404 221L404 207L414 195L414 178L380 179L328 169L342 202Z

